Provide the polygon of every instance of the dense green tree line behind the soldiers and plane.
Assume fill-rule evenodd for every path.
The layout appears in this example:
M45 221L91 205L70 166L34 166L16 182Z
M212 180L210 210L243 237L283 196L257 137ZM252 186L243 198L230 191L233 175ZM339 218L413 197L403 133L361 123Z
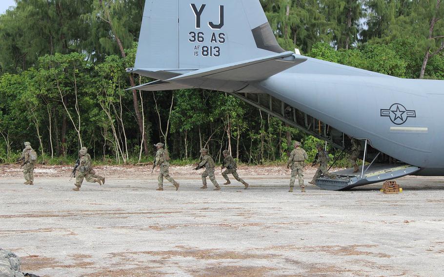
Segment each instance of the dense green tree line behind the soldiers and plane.
M280 45L400 78L443 79L441 0L261 0ZM242 162L286 158L291 140L317 139L225 93L125 91L150 79L134 64L144 0L16 0L0 15L0 162L30 141L41 161L85 146L103 162L176 159L209 148ZM332 149L334 152L334 149Z

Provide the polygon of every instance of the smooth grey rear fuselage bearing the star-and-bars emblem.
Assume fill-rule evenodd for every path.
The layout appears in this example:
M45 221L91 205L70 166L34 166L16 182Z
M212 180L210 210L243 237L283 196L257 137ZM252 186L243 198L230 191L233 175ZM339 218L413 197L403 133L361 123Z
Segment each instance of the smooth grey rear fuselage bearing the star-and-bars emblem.
M329 74L319 62L331 64L309 59L257 86L335 129L368 139L391 157L424 168L424 174L444 173L444 81L401 79L337 64L335 74ZM338 75L338 67L349 75Z

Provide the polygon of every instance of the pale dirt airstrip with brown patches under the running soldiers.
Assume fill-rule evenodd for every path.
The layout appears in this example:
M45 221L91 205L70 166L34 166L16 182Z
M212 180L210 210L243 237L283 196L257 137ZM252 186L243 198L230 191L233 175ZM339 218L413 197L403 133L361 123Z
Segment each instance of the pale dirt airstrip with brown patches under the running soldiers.
M241 167L250 188L216 192L190 169L158 192L158 169L97 167L106 183L74 192L69 167L39 166L29 186L0 166L0 247L41 277L444 276L444 178L288 193L284 167Z

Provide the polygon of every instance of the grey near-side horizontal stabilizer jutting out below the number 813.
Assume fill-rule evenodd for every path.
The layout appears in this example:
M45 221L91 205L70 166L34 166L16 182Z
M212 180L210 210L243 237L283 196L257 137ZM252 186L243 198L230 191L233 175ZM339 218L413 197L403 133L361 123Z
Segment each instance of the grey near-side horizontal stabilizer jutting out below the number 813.
M284 52L259 59L204 68L168 79L167 81L182 82L187 79L198 78L241 82L260 81L298 65L305 60L307 58L295 56L293 52Z

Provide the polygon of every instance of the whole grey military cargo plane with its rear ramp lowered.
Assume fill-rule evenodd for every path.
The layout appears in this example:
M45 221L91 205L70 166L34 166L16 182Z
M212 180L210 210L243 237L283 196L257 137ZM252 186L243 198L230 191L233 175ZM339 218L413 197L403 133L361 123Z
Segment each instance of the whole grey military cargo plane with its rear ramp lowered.
M259 0L146 0L134 68L157 81L132 89L227 92L347 151L360 139L359 174L317 186L340 190L406 175L444 175L444 82L400 79L283 50ZM382 164L384 157L395 165Z

